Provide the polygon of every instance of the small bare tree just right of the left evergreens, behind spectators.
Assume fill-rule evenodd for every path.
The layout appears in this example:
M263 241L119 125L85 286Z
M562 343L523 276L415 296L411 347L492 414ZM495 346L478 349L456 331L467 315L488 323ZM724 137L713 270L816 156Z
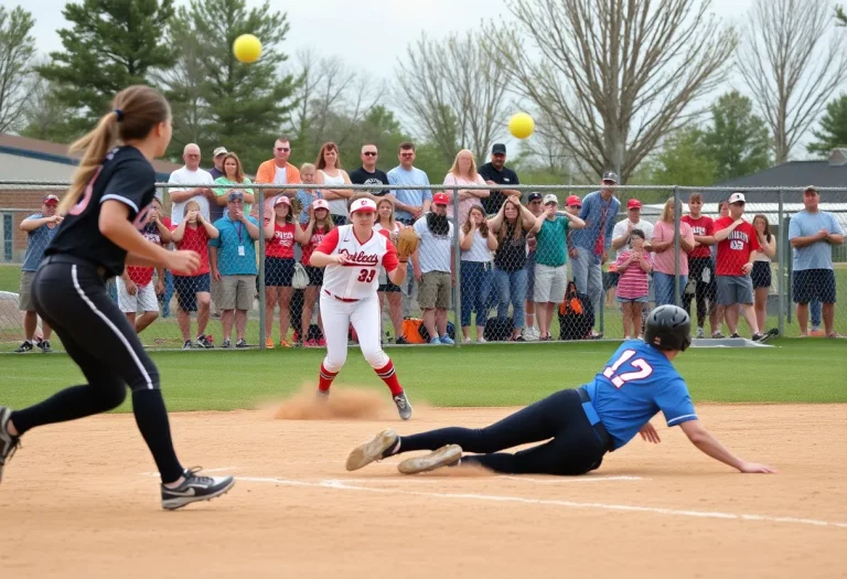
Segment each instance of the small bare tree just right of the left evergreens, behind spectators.
M340 148L349 144L356 127L382 98L380 82L339 56L320 57L313 50L300 51L294 74L301 83L292 112L293 130L298 146L315 153L328 140Z

